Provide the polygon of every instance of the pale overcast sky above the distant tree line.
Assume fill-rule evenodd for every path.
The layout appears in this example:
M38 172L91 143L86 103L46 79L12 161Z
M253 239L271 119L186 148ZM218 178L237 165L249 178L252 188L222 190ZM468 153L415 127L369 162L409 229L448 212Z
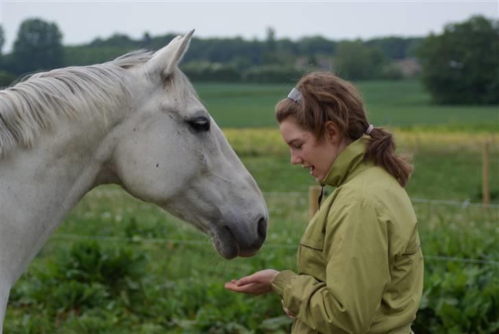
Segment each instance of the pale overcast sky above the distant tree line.
M55 22L65 45L89 43L116 32L140 38L195 28L197 37L332 40L426 36L474 14L498 19L499 1L9 1L0 0L3 51L10 51L21 22Z

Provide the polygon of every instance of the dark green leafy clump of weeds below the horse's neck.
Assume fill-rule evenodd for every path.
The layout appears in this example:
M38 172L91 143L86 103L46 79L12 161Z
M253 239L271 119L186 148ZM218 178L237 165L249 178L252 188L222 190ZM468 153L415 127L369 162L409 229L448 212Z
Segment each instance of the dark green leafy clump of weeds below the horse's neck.
M116 245L114 245L116 246ZM29 273L12 289L10 302L48 311L51 316L79 314L99 305L124 307L140 300L147 259L130 248L101 248L95 241L60 248L56 261Z

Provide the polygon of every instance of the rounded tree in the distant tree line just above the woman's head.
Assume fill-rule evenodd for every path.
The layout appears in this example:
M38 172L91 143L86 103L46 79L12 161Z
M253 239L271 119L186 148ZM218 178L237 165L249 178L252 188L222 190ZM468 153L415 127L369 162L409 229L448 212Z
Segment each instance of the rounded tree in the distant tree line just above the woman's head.
M376 47L367 47L361 40L344 40L337 45L334 72L348 80L380 77L385 56Z

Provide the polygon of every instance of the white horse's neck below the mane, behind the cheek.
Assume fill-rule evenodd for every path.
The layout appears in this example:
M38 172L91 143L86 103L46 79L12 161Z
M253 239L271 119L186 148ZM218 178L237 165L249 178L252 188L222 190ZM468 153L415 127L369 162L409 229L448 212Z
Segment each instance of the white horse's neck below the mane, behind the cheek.
M107 121L116 124L119 117ZM1 283L19 278L67 213L95 187L114 142L112 128L106 132L99 123L62 121L32 150L18 149L0 160Z

